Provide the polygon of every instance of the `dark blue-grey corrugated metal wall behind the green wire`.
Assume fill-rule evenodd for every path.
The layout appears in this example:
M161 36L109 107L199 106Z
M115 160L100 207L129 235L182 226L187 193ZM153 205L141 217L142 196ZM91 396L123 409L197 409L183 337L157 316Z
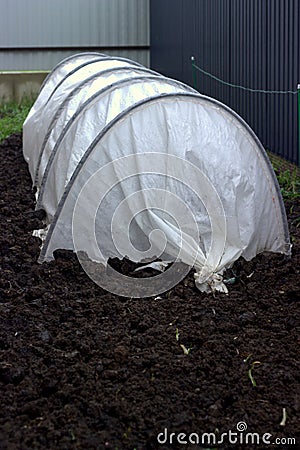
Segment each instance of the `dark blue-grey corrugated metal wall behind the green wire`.
M154 70L192 85L193 55L200 68L228 83L297 90L299 0L151 0L150 23ZM249 92L199 71L197 88L237 111L267 149L300 163L297 95Z

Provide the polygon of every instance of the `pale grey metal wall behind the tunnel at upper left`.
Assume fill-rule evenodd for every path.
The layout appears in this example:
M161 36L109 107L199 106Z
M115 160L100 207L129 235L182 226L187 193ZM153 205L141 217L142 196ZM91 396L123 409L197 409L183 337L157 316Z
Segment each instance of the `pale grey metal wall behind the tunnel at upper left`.
M0 0L0 70L91 49L149 65L149 40L149 0Z

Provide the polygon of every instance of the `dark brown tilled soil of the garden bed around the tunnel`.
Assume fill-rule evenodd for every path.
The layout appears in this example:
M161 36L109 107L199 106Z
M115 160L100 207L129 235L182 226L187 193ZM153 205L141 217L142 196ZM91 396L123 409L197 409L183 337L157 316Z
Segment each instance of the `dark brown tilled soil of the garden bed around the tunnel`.
M265 433L300 448L299 200L287 205L292 258L240 261L229 296L201 294L191 274L162 298L121 298L70 253L37 264L21 144L0 145L0 448L225 449L233 434L213 445L202 433L220 440L239 422L232 448L270 448ZM180 432L200 444L178 444Z

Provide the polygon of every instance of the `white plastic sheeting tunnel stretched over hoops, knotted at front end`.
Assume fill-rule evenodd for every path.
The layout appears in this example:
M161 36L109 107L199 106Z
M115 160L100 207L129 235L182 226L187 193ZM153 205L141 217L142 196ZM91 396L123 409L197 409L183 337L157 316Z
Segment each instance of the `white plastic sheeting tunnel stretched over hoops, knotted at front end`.
M56 249L103 264L180 260L200 288L224 290L218 274L240 256L290 253L276 177L251 129L132 61L80 54L58 65L24 123L23 152L47 214L40 262Z

